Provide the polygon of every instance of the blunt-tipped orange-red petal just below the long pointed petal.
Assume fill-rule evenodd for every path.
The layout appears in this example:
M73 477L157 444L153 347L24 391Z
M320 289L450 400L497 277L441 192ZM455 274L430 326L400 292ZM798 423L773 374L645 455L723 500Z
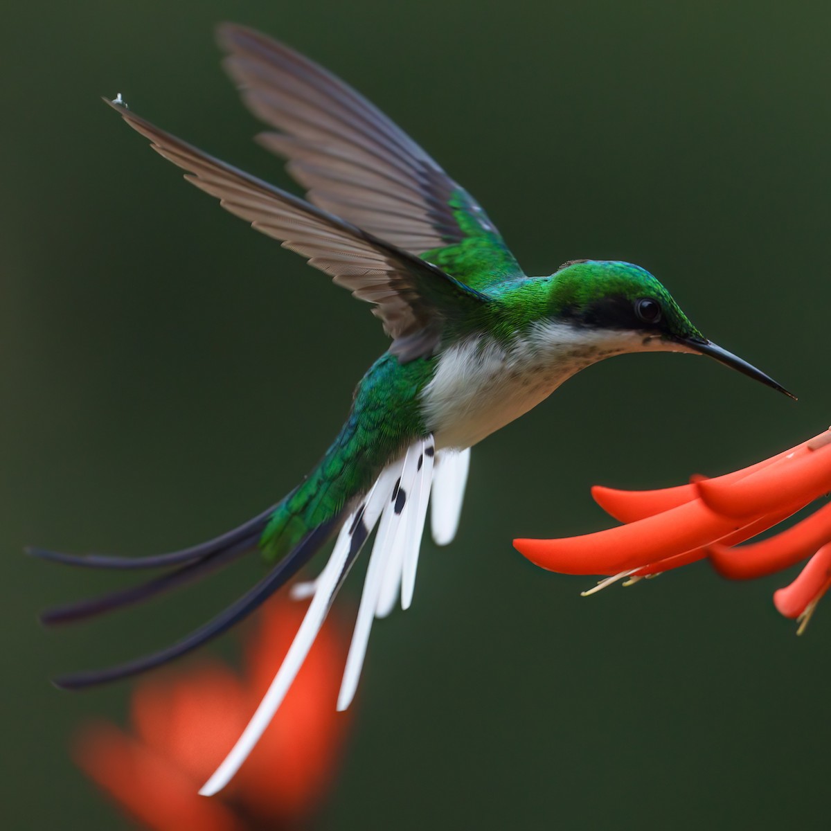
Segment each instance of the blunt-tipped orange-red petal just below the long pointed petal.
M711 546L713 568L730 580L749 580L773 574L809 557L831 541L831 503L774 537L742 548L720 543ZM726 540L725 540L726 543Z

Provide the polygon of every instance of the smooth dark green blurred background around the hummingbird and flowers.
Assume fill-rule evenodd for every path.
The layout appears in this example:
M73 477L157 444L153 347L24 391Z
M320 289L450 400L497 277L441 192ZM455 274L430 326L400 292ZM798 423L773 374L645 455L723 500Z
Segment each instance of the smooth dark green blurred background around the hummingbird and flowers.
M112 575L26 543L153 553L258 513L317 460L386 348L366 307L186 186L101 104L288 184L219 68L214 22L352 82L470 189L529 273L641 263L798 404L688 356L584 372L476 448L459 537L375 627L325 829L827 827L831 614L702 563L581 599L514 536L609 524L590 484L715 474L823 430L831 8L823 2L30 2L0 96L0 814L120 828L68 737L129 685L57 671L158 647L262 572L45 632ZM356 573L347 592L357 596ZM347 599L348 602L348 599ZM233 656L226 637L212 647Z

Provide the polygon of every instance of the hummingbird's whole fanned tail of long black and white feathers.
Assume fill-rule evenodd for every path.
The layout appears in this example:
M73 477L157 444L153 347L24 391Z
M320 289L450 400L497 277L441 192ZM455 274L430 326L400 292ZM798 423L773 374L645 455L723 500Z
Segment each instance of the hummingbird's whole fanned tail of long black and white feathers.
M294 587L294 597L311 597L311 602L252 720L234 749L200 791L205 795L215 794L234 776L273 718L315 642L347 574L377 525L337 699L338 710L349 706L361 674L373 619L386 617L399 597L401 607L406 609L410 606L431 492L434 503L431 525L435 541L446 544L455 535L469 460L470 450L436 452L433 437L428 435L415 440L403 456L386 465L365 494L344 499L346 507L329 509L327 514L321 516L322 497L332 498L333 494L322 487L316 470L278 505L233 531L192 548L155 557L134 559L100 554L79 557L41 548L29 549L33 556L81 568L168 568L160 577L139 586L44 612L42 620L47 624L78 621L154 597L222 568L253 548L261 548L274 563L268 574L243 597L170 647L117 666L59 676L53 683L63 689L83 689L135 676L192 652L257 609L293 578L339 528L332 554L321 573L311 583L300 583ZM326 461L323 460L321 469Z

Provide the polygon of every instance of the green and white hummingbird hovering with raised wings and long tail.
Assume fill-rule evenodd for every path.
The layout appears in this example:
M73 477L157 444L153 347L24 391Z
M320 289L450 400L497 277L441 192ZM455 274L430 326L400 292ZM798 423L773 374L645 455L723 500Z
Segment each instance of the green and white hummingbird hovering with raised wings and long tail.
M30 549L88 568L164 569L145 583L44 612L81 620L140 602L259 550L268 573L170 647L104 670L55 679L70 689L132 676L203 645L253 612L335 537L327 563L294 597L311 598L272 686L237 745L200 791L234 776L291 685L352 565L375 531L337 707L355 694L371 625L410 606L431 502L436 543L454 538L470 448L597 361L628 352L707 355L790 396L704 337L645 268L574 259L529 277L479 203L375 106L289 47L223 24L224 68L268 129L258 141L287 160L306 199L198 150L108 103L185 179L278 239L354 297L391 338L358 382L322 459L277 504L181 551L143 558ZM793 397L793 396L791 396Z

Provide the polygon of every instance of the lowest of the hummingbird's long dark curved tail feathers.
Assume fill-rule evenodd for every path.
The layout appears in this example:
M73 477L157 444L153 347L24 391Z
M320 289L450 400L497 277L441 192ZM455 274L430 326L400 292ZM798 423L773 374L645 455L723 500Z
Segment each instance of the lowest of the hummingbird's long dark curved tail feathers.
M293 578L300 568L317 552L317 549L326 542L332 533L332 529L337 524L337 519L339 518L317 526L316 529L303 538L302 542L292 552L277 563L265 578L243 594L243 597L240 597L224 612L221 612L213 620L194 630L179 642L159 652L153 652L150 655L127 661L118 666L112 666L109 669L75 672L71 675L60 676L55 678L52 683L64 690L81 690L88 686L106 684L108 681L117 681L161 666L201 647L204 643L226 632L234 624L243 620L244 617L248 617L278 588Z

